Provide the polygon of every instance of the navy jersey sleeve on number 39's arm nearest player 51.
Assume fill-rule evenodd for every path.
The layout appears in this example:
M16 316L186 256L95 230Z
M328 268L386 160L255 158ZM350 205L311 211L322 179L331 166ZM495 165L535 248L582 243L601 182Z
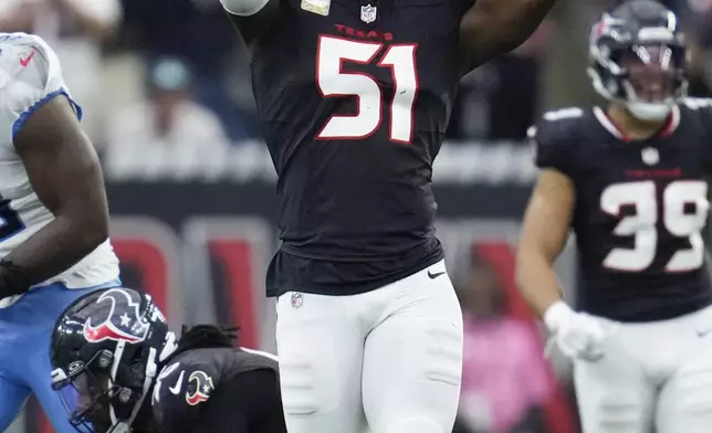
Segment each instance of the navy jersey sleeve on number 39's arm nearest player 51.
M553 168L572 179L575 177L576 138L572 131L575 130L575 125L583 115L584 110L576 107L548 112L528 129L527 135L534 149L536 167Z

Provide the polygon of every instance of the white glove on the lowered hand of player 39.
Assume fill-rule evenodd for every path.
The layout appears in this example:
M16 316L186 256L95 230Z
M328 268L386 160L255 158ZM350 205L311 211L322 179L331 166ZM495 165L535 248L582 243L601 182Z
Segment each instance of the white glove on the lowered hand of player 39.
M557 300L544 313L544 323L568 358L591 362L603 358L605 332L600 321Z

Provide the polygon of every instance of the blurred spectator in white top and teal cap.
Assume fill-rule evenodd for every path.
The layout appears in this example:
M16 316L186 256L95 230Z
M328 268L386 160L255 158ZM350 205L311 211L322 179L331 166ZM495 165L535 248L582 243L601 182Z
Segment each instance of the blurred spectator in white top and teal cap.
M112 158L158 152L168 159L190 159L195 152L228 146L218 117L191 99L186 63L160 59L148 81L147 97L126 107L109 125L106 151Z

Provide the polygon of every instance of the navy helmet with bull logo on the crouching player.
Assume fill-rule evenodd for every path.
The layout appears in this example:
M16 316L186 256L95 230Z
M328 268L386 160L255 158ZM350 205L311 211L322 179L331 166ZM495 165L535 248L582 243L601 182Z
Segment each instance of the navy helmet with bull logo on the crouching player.
M176 336L151 297L130 288L93 292L57 319L52 388L80 432L130 431Z

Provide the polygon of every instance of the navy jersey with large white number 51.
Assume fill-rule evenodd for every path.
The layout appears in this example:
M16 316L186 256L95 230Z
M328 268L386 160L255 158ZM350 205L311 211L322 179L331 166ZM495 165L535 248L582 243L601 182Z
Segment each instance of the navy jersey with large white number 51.
M367 292L443 257L432 162L463 73L458 33L471 3L279 2L279 24L251 44L279 175L270 294Z

